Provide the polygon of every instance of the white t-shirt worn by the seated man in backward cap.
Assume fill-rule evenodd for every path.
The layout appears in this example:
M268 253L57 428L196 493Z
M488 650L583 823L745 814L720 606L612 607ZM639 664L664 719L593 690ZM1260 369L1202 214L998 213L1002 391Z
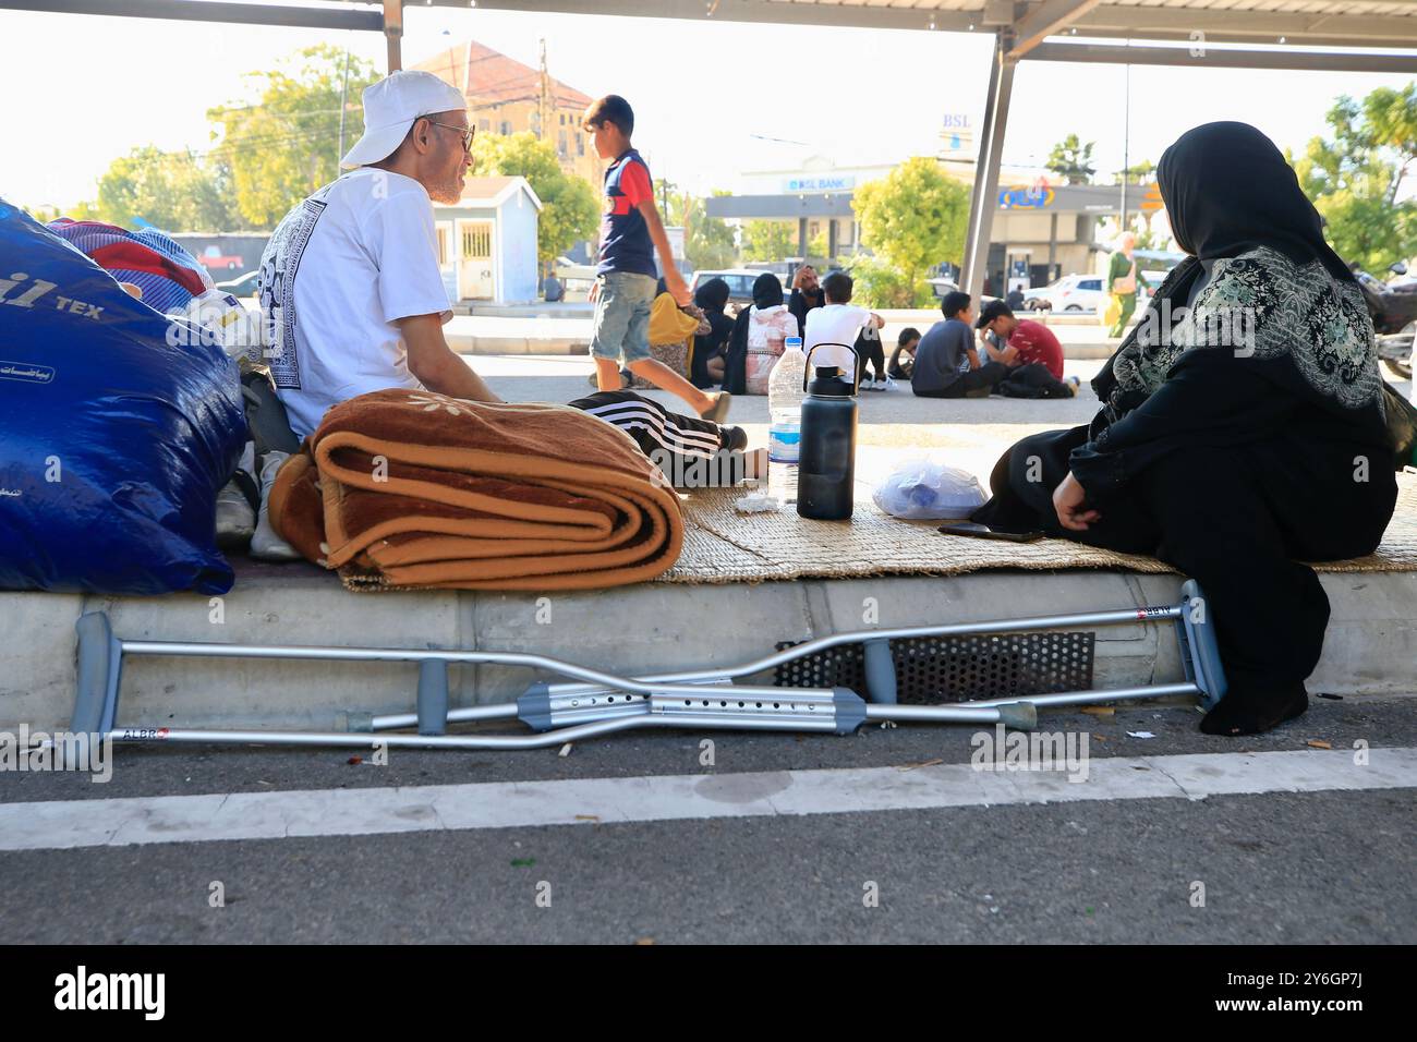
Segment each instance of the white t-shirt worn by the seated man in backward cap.
M303 438L324 410L385 387L422 387L395 319L452 318L428 191L360 167L285 215L261 257L262 360Z

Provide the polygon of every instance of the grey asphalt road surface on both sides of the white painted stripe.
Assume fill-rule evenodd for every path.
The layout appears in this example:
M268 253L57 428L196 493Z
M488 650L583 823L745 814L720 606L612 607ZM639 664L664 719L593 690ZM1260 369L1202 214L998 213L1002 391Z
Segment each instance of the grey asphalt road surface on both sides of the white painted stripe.
M1315 698L1301 720L1243 740L1203 736L1196 720L1186 706L1132 706L1047 713L1041 727L1085 732L1094 768L1111 757L1240 761L1311 743L1328 743L1333 757L1359 740L1374 751L1417 746L1417 699ZM564 757L391 750L387 766L326 750L125 747L105 785L0 774L0 804L38 814L72 801L337 790L367 790L373 801L390 788L533 781L572 783L574 792L595 778L645 778L653 792L669 775L733 792L765 771L839 768L908 780L968 763L973 732L717 733L713 766L701 763L706 736L693 733L606 737ZM1132 737L1141 733L1153 737ZM20 943L1411 943L1411 809L1410 787L1280 790L808 815L735 817L728 807L703 819L75 849L55 849L64 841L51 827L52 846L0 852L0 890L24 910L4 930ZM1197 882L1204 906L1195 904Z

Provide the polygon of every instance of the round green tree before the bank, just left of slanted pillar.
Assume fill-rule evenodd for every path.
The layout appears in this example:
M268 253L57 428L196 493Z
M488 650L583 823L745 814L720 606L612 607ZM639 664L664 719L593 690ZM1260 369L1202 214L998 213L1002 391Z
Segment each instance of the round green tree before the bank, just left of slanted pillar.
M925 272L942 261L959 264L969 220L969 189L951 180L934 159L908 159L884 180L856 190L862 244L894 267L911 299L927 299Z

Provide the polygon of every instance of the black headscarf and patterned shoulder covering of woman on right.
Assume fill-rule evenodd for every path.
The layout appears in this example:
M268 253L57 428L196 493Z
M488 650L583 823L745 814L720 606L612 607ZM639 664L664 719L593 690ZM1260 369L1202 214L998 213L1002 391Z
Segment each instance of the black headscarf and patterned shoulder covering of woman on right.
M1253 318L1243 354L1214 343L1237 366L1258 366L1291 394L1340 414L1374 407L1382 422L1383 379L1363 296L1274 143L1248 123L1204 123L1162 153L1156 180L1172 234L1192 257L1093 380L1102 401L1094 424L1117 422L1155 394L1216 339L1199 330L1223 315ZM1202 262L1210 281L1186 306Z

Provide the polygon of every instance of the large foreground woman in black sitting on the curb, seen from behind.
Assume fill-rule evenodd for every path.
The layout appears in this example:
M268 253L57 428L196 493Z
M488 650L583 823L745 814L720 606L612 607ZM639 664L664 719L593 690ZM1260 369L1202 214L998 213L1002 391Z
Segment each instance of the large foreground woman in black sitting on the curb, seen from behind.
M1298 561L1369 554L1391 517L1390 405L1353 276L1268 138L1197 126L1156 180L1190 257L1093 381L1093 422L1015 445L973 519L1193 577L1227 680L1200 730L1253 734L1308 707L1329 603Z

